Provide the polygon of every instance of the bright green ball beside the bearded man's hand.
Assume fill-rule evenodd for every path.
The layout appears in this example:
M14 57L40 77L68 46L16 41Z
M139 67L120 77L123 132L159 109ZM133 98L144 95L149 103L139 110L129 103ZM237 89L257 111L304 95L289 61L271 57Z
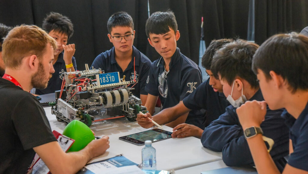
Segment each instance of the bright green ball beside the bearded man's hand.
M67 152L76 152L86 147L92 140L94 135L91 129L83 122L73 120L63 130L63 135L75 140L71 148Z

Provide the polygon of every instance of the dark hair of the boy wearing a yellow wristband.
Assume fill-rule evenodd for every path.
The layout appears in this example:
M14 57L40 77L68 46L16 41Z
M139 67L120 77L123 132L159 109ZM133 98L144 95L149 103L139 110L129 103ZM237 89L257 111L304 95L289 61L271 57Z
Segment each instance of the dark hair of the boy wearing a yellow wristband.
M55 12L51 12L47 15L43 20L42 28L47 32L54 30L59 33L67 34L68 39L71 38L74 33L71 20L62 14Z

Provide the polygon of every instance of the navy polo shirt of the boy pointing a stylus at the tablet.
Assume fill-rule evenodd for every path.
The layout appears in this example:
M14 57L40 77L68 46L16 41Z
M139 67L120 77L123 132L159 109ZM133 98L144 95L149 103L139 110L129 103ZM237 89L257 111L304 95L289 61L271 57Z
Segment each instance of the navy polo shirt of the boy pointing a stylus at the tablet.
M209 84L210 79L201 83L193 93L183 99L183 104L191 110L205 109L205 120L203 125L206 127L216 120L230 103L223 93L215 92ZM203 128L204 129L204 128Z

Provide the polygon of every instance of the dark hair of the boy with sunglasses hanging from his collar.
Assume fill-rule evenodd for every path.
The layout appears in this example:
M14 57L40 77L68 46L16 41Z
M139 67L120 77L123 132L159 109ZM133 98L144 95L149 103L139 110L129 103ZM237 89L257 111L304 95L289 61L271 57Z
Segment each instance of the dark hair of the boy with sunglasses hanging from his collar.
M145 24L145 33L150 38L150 34L168 33L170 31L169 27L176 33L177 23L174 13L171 10L166 12L158 11L151 14L150 18L148 18Z

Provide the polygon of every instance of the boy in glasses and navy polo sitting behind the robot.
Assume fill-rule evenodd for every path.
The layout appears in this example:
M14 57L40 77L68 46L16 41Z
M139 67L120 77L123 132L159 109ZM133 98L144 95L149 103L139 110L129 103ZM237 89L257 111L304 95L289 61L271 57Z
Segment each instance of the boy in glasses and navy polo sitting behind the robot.
M108 19L107 28L108 38L113 47L100 53L91 68L101 68L105 73L120 72L120 77L125 75L126 81L136 80L132 94L140 98L144 105L148 95L144 88L151 61L133 46L135 38L133 19L126 12L117 12Z

